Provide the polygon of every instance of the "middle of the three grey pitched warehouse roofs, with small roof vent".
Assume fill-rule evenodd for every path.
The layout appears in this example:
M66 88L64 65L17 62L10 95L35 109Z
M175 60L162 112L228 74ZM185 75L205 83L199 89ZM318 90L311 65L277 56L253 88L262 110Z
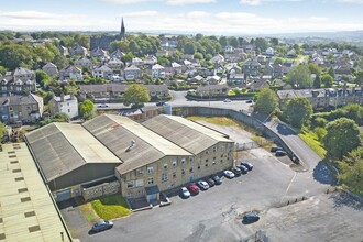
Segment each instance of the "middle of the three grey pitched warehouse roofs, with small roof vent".
M117 167L121 174L167 155L190 155L187 151L127 117L103 114L82 125L123 161L123 164Z

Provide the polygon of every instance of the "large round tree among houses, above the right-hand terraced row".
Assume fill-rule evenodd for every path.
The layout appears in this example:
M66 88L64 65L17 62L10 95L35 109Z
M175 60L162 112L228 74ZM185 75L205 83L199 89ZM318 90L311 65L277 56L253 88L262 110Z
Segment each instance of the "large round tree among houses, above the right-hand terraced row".
M310 70L305 65L298 65L293 67L287 73L287 80L290 85L301 89L310 88L312 86Z

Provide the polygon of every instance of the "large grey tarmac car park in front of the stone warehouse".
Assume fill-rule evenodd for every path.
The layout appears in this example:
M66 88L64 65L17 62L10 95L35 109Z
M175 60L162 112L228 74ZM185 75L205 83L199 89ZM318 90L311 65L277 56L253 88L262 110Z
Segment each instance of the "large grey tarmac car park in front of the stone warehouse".
M111 230L96 234L78 230L77 237L80 241L242 241L263 231L271 241L360 241L362 207L352 206L350 197L324 194L334 183L324 164L296 173L261 147L243 152L240 158L249 160L253 170L223 177L221 185L187 199L172 196L170 206L134 212L116 220ZM302 197L304 201L294 202ZM257 211L261 220L243 224L248 211Z

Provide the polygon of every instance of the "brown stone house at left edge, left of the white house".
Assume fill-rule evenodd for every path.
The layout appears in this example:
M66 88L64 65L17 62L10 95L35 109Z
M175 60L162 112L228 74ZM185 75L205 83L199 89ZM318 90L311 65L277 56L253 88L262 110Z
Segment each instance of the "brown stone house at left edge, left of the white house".
M0 118L3 123L36 122L43 114L43 98L28 96L0 97Z

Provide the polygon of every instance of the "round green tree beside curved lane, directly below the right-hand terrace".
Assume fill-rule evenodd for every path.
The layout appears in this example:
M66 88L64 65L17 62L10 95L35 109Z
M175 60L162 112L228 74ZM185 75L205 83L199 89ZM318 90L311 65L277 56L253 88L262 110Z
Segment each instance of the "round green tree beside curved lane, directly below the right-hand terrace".
M306 98L292 98L286 102L284 116L293 127L301 128L311 114L312 106Z

